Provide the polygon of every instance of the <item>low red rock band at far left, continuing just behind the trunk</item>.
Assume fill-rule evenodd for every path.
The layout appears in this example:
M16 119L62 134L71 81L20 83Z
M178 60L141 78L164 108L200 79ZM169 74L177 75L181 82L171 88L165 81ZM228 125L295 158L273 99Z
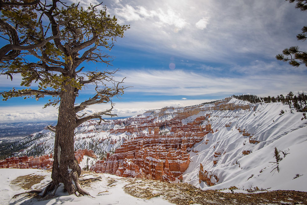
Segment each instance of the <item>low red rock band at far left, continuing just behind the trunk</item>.
M84 155L93 157L95 159L97 158L92 150L79 149L75 152L75 157L78 163L82 161ZM33 157L33 156L11 157L0 161L0 168L51 169L52 163L53 163L52 154L40 157Z

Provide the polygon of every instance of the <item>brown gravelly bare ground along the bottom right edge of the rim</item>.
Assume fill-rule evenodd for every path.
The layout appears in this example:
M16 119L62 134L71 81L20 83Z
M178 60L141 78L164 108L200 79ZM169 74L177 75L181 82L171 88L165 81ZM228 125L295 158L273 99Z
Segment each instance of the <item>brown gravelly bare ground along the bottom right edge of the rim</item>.
M307 204L307 192L302 191L267 191L263 193L223 193L203 191L186 183L165 183L151 180L125 179L129 182L124 187L126 193L150 199L161 196L178 205L199 204Z

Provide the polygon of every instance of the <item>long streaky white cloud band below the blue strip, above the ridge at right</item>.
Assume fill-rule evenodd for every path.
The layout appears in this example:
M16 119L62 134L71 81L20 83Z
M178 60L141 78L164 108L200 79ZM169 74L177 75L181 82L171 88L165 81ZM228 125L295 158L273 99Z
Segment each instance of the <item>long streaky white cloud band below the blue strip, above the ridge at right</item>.
M212 76L185 70L134 70L122 71L119 75L127 76L125 84L133 86L128 88L126 93L133 92L142 95L204 96L249 92L267 96L306 87L305 76L300 73L285 75L285 73L276 72L262 75L261 70L245 76Z

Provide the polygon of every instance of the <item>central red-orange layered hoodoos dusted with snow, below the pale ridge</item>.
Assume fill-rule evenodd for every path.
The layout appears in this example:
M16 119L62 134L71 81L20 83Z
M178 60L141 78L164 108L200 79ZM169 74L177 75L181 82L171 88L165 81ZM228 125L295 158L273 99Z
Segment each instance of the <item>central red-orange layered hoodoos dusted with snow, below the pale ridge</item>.
M136 137L125 141L116 149L115 154L97 161L90 169L123 177L161 181L182 179L182 174L190 163L187 149L200 142L207 133L213 132L210 124L206 129L201 126L202 122L210 117L208 114L182 124L182 119L199 112L200 110L181 112L171 120L155 123L152 119L142 118L141 122L134 126L112 130L114 133L134 131ZM160 128L166 126L170 127L170 132L163 133Z

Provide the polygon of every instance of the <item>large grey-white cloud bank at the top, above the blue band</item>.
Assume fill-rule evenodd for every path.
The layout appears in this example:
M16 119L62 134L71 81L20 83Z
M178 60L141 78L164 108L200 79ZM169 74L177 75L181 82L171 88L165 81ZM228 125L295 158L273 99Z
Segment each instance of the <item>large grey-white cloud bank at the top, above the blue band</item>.
M107 0L103 4L120 24L130 24L125 38L118 39L121 45L210 62L232 63L251 55L275 60L284 48L297 44L295 36L305 24L304 13L282 1Z

